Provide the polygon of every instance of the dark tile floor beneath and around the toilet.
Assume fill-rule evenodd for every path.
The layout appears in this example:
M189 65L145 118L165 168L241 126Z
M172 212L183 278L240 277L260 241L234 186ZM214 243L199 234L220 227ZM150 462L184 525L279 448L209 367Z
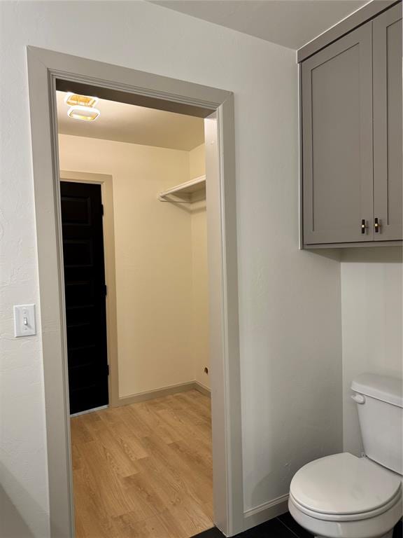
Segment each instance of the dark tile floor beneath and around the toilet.
M220 530L214 528L197 534L194 538L222 538L224 534ZM403 526L400 520L393 532L393 538L402 538ZM309 532L306 532L302 527L292 519L289 512L284 513L278 518L271 519L262 525L258 525L253 529L236 534L234 538L312 538Z

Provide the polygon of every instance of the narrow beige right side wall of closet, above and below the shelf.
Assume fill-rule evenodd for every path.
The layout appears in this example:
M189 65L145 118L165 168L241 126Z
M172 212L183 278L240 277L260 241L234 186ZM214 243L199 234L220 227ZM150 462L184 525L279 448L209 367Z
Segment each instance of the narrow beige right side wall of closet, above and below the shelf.
M189 152L190 179L205 174L204 144ZM192 350L195 380L210 388L206 201L192 204Z

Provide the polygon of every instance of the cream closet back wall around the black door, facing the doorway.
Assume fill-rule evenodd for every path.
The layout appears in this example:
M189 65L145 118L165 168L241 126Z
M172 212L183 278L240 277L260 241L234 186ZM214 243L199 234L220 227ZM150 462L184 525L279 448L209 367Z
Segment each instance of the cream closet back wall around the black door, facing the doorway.
M194 379L190 213L157 200L189 152L59 135L62 170L111 174L119 396Z

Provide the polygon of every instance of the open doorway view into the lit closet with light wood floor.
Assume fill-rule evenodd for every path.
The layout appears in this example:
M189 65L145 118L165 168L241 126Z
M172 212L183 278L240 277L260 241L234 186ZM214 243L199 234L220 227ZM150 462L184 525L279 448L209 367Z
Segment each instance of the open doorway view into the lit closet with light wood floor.
M57 91L70 399L77 381L89 396L84 374L92 382L99 361L93 305L115 294L118 322L117 401L71 409L76 537L189 538L213 526L204 120L99 99L87 124L69 99ZM88 242L102 244L111 220L106 181L115 291Z

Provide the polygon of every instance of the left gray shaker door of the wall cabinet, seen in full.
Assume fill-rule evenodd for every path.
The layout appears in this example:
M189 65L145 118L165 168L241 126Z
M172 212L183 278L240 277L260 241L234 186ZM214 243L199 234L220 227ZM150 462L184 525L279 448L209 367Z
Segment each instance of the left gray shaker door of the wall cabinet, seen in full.
M372 22L302 63L302 174L305 244L373 240Z

